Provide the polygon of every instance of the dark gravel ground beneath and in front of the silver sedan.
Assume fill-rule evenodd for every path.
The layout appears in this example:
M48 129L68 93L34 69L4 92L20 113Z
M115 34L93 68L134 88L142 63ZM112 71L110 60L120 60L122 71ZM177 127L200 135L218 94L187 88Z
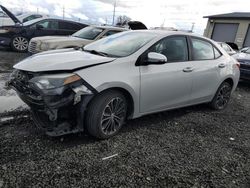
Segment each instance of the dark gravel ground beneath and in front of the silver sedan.
M27 109L2 113L0 188L250 187L249 96L242 82L223 111L198 105L149 115L103 141L47 137Z

